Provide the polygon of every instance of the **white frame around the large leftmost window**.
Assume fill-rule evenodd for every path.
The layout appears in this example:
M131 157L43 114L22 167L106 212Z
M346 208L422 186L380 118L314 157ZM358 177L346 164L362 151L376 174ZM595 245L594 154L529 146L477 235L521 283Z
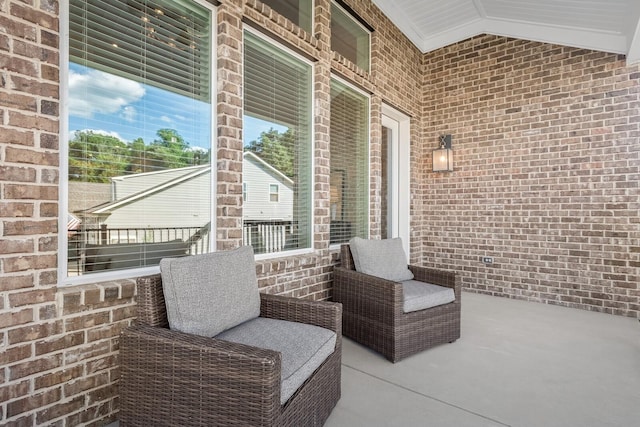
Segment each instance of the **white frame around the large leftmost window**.
M209 234L209 248L216 250L216 117L217 102L213 84L217 81L217 7L206 0L190 0L211 12L211 233ZM104 273L92 273L80 276L68 276L68 237L67 237L67 212L69 210L69 0L60 1L60 183L58 200L58 284L60 286L82 285L98 283L109 280L128 279L160 272L160 266L132 268L127 270L106 271Z

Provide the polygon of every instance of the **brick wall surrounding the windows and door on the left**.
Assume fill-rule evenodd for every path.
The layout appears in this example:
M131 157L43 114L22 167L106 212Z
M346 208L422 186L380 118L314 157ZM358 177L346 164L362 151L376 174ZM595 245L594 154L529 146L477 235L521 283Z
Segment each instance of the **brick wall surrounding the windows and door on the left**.
M330 51L330 2L315 2L313 34L256 0L222 0L217 11L217 235L241 242L243 21L315 61L314 251L258 263L263 292L330 296L336 251L329 241L329 83L332 72L372 99L371 217L380 217L383 101L419 117L422 55L369 1L347 1L376 32L372 69ZM135 317L131 279L59 286L60 5L0 0L0 425L105 425L117 419L118 334ZM402 72L400 72L402 70ZM418 135L419 118L412 121ZM418 138L412 138L416 149ZM416 184L416 189L418 188ZM372 225L372 234L379 233Z

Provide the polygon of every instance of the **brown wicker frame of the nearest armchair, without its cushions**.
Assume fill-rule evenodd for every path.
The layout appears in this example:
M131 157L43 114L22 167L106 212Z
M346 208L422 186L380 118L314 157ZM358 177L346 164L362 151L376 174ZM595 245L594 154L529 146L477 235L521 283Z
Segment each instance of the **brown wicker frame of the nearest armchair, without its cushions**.
M160 274L137 280L137 324L121 337L121 426L320 426L340 398L341 307L261 294L260 316L337 335L334 352L284 404L278 352L168 329Z

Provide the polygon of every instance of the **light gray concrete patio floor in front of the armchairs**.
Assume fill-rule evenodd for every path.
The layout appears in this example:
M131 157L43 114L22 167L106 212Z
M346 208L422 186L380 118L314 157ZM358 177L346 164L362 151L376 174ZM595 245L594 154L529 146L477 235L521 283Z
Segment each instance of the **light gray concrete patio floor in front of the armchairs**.
M465 292L455 343L342 363L326 427L640 425L638 319Z

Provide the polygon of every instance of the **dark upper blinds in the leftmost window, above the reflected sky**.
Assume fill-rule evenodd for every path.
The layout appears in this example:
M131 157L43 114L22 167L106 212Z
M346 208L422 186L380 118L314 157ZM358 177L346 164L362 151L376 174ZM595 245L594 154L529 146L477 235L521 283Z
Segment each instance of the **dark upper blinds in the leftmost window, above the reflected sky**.
M209 15L209 10L186 1L71 0L69 57L208 101Z

